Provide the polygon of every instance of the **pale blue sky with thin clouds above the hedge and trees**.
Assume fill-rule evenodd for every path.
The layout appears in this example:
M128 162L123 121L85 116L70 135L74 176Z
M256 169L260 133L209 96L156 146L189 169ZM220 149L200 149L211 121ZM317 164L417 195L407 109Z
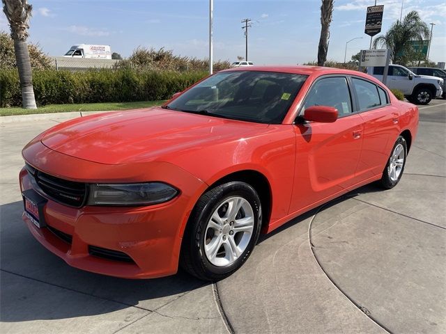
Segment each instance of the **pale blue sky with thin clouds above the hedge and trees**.
M208 56L208 0L29 0L33 6L31 42L50 56L61 56L71 45L110 45L112 51L130 56L136 47L174 50L182 56ZM435 23L430 56L446 61L445 0L378 0L384 5L383 29L410 10L424 22ZM367 6L374 0L335 0L330 26L328 59L344 61L360 49L368 49L364 34ZM249 29L249 61L256 65L295 65L316 61L320 24L320 0L214 0L214 59L236 61L245 56L241 20L252 19ZM429 26L430 28L431 26ZM8 31L3 13L0 31Z

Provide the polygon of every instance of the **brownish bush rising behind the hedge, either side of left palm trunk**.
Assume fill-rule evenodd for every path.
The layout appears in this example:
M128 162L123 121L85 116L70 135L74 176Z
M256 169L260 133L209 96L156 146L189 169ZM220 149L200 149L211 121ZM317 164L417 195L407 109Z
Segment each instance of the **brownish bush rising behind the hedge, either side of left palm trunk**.
M36 44L29 43L29 58L31 68L43 70L52 67L51 59ZM0 68L15 68L14 41L10 34L0 31Z

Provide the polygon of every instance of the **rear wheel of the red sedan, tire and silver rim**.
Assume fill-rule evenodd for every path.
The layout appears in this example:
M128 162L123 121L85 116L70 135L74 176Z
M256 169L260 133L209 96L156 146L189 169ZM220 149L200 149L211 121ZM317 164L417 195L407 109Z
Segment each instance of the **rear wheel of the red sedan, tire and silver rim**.
M406 166L407 143L403 136L399 136L392 148L387 164L383 170L380 185L385 189L392 189L403 176L404 166Z

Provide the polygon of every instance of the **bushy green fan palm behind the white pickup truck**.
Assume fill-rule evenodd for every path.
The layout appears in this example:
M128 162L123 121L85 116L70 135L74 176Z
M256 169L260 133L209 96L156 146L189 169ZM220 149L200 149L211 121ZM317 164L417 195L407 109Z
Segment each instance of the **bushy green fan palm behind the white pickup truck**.
M411 40L429 39L429 27L422 21L417 11L408 13L402 22L399 20L390 26L387 33L374 40L374 48L385 47L390 50L390 59L394 64L406 65L413 60L414 50Z

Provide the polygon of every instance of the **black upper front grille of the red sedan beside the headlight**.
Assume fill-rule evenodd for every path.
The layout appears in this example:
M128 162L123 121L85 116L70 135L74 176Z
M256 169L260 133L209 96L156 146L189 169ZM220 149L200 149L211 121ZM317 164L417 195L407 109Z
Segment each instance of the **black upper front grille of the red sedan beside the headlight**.
M85 183L63 180L36 170L29 164L26 164L26 169L34 177L38 187L49 198L72 207L82 207L84 205L87 189Z

